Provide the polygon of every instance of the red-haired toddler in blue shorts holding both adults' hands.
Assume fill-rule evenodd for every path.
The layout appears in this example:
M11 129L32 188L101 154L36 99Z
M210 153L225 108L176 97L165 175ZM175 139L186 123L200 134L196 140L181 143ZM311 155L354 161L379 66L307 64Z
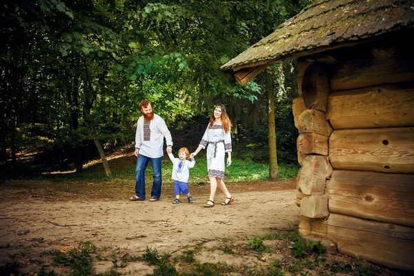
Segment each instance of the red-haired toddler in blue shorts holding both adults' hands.
M174 179L174 194L175 200L172 201L173 204L179 204L179 193L182 192L183 195L187 196L188 203L193 203L193 197L188 192L188 177L190 177L190 168L194 168L195 160L194 158L191 161L188 161L190 157L190 152L187 148L180 148L178 151L178 157L174 158L172 153L168 153L172 161L172 176Z

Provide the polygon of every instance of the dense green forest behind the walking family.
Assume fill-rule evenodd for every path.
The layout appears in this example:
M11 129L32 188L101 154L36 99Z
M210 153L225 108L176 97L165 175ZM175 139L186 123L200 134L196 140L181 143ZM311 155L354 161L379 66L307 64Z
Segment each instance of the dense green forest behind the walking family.
M270 66L270 84L262 74L243 87L220 66L309 3L3 1L0 176L82 172L99 155L105 163L119 148L132 153L142 99L166 120L175 154L181 146L197 148L214 104L224 103L233 123L233 161L268 172L267 103L275 97L277 161L295 177L295 62Z

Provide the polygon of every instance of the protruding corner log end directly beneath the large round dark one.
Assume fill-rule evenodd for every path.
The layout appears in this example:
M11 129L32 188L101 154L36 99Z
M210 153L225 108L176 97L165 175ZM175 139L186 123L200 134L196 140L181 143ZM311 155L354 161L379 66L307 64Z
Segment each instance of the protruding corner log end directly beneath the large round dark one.
M329 137L333 131L331 124L325 119L325 113L315 109L302 112L297 120L299 133L314 132Z

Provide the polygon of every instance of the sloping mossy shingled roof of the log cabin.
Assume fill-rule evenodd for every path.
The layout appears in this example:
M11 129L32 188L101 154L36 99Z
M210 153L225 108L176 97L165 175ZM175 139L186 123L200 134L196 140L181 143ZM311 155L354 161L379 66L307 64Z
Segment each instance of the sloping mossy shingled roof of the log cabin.
M234 75L243 68L266 68L407 28L414 28L414 0L317 0L221 70Z

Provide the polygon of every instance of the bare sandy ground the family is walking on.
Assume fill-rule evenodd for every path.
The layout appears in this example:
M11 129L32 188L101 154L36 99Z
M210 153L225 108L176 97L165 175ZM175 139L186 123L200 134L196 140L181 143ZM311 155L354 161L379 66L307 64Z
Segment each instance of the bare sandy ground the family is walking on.
M217 193L216 206L203 208L208 199L208 186L198 194L193 193L193 204L188 204L185 197L181 197L181 204L172 204L174 196L165 195L165 190L156 202L128 201L126 193L122 193L121 199L121 195L115 199L90 200L68 196L49 201L48 187L42 188L41 196L33 197L33 190L39 194L39 187L26 185L26 190L21 188L26 192L23 196L16 185L11 185L0 190L8 195L0 201L0 266L10 263L14 257L19 260L21 272L30 273L39 264L50 265L30 258L45 250L61 250L85 241L135 256L142 255L147 247L157 248L160 254L174 254L200 244L204 248L214 247L217 241L246 244L248 239L275 230L297 228L299 208L295 204L294 180L284 186L262 186L256 190L250 185L228 186L235 198L233 204L221 206L224 196ZM218 262L222 254L223 250L217 253L206 250L197 254L197 259ZM248 257L237 258L228 262L259 262ZM108 271L111 266L110 261L98 262L95 273ZM123 269L133 275L145 275L152 268L128 264Z

